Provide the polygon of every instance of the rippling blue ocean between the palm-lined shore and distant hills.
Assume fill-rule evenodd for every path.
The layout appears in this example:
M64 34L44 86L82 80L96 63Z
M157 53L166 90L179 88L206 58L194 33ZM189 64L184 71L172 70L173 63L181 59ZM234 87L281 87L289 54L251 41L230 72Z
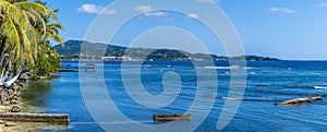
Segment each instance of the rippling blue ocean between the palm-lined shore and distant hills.
M64 61L62 68L84 63ZM52 131L208 132L218 131L219 121L227 122L219 131L327 131L327 61L93 63L96 72L80 68L28 82L22 101L34 112L70 115L68 127ZM246 82L232 85L232 76ZM239 96L229 96L231 89ZM323 100L274 105L315 96ZM156 113L191 113L191 120L154 122Z

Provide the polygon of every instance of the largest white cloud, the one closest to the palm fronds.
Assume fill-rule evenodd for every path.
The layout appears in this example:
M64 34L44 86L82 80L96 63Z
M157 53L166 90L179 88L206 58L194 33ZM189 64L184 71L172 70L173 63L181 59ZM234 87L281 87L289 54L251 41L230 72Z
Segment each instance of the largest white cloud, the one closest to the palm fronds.
M102 12L104 11L104 12ZM106 9L100 5L85 3L82 7L77 9L77 12L80 13L89 13L89 14L117 14L118 12L113 9Z

